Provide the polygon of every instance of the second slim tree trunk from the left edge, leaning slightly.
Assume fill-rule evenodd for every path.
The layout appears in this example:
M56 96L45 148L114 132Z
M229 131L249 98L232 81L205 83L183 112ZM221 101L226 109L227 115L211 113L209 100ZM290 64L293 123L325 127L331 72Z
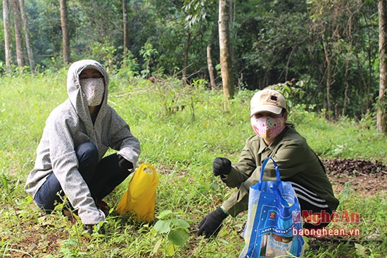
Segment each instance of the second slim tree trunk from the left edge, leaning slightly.
M13 11L13 20L15 22L15 45L16 45L16 60L18 67L25 67L25 57L23 52L23 36L22 36L22 20L20 18L18 0L11 0L11 8Z

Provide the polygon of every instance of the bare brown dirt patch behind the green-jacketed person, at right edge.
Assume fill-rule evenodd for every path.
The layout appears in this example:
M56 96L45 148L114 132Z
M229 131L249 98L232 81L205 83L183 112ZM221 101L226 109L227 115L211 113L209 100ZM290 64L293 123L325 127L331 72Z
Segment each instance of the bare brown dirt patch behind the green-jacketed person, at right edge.
M324 165L336 193L345 187L363 196L374 196L379 191L387 191L387 167L381 162L336 159L325 160Z

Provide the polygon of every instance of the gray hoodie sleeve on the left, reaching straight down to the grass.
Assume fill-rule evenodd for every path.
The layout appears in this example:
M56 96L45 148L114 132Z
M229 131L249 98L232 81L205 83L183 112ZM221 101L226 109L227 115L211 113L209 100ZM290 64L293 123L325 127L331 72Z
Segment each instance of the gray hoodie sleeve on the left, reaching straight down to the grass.
M48 121L49 148L53 173L61 183L63 192L72 207L78 210L83 224L98 224L105 220L105 215L99 210L87 183L78 171L78 160L75 153L75 144L72 140L70 119Z

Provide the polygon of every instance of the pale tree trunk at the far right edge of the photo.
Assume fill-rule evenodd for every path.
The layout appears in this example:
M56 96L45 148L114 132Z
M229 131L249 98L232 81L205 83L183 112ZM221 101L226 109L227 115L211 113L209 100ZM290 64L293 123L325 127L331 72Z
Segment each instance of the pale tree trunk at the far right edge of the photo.
M379 11L379 100L376 108L378 134L387 132L386 84L387 84L387 8L386 0L378 1Z

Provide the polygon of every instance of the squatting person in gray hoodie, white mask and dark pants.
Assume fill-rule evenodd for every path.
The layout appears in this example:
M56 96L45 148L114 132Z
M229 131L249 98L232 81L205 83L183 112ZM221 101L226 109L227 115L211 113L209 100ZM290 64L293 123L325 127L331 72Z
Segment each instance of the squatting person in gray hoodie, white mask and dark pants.
M106 219L102 199L129 176L141 152L127 122L108 105L108 83L95 60L70 66L68 99L47 118L25 184L47 214L67 199L90 233ZM104 157L108 148L118 152Z

